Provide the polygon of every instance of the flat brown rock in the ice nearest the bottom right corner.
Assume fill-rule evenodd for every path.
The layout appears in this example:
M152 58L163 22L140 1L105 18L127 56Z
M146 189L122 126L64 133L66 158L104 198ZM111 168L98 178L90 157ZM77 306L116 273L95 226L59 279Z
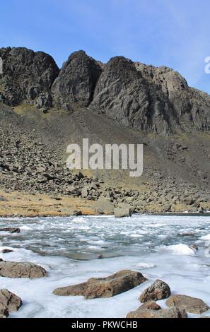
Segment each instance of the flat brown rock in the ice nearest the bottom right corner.
M186 312L192 312L192 314L202 314L210 309L201 299L187 295L172 295L166 304L168 307L185 309Z

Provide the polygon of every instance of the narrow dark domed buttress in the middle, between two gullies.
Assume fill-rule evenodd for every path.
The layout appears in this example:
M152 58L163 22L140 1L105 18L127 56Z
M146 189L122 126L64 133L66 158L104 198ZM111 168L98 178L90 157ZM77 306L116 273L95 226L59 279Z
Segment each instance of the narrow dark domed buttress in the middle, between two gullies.
M93 97L95 84L101 73L101 65L83 51L74 52L64 63L52 85L55 103L71 107L77 104L87 107Z

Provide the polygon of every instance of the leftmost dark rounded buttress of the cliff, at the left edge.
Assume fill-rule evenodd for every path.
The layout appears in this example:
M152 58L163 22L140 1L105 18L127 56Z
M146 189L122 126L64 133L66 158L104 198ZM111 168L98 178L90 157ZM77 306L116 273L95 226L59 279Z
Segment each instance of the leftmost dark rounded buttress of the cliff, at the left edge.
M0 76L1 102L16 106L23 100L34 100L40 107L50 106L49 92L59 73L52 57L23 47L1 48L0 57L4 73Z

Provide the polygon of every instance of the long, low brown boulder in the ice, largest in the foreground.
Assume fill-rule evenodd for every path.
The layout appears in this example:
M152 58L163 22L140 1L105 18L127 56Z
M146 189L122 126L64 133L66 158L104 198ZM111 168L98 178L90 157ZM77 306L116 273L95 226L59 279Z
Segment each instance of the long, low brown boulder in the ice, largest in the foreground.
M57 288L55 295L83 295L86 299L112 297L144 283L147 279L140 272L124 270L107 278L91 278L86 283Z

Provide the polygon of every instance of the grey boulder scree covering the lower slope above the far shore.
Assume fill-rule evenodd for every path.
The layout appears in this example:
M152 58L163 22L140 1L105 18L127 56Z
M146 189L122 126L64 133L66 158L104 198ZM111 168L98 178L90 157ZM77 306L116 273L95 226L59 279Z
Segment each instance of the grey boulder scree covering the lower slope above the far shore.
M1 113L0 118L5 119ZM83 198L94 204L96 213L109 215L117 208L115 214L119 216L130 215L130 211L152 212L153 209L173 212L176 206L182 206L183 198L192 196L195 205L187 205L185 208L183 206L182 209L197 212L202 207L201 203L210 201L210 193L206 189L189 186L169 177L167 184L163 183L163 179L156 177L151 170L147 170L144 175L146 184L148 179L152 179L153 186L149 186L145 191L110 187L97 177L72 172L61 162L59 153L55 153L45 141L40 142L35 138L33 141L25 141L20 134L11 136L9 131L15 130L16 121L18 120L14 120L13 129L6 130L5 126L0 126L0 188L4 191L19 191L20 195L25 192L52 197ZM11 121L9 122L11 125ZM129 207L118 210L120 204L128 204Z

